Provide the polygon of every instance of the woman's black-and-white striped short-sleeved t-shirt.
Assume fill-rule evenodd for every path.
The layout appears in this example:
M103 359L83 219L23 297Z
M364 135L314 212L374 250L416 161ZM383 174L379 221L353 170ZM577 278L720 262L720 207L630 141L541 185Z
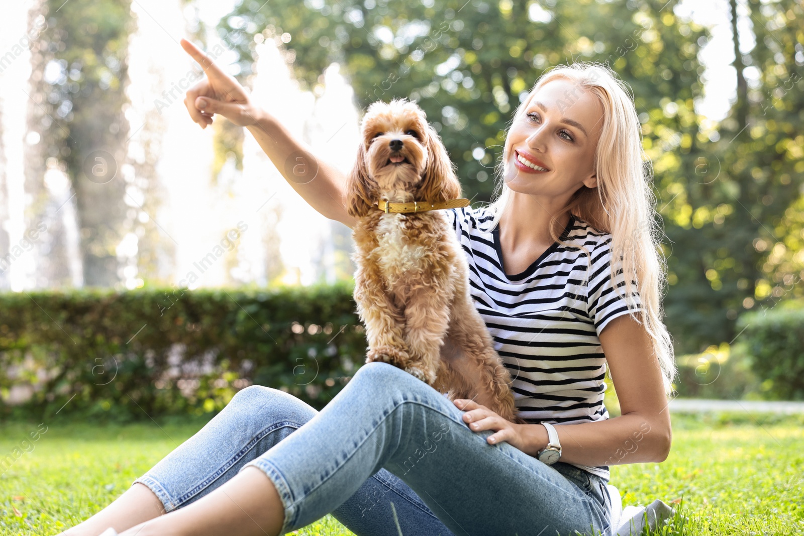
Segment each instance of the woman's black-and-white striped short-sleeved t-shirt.
M615 284L625 284L622 270L614 282L610 276L611 235L571 216L560 238L564 244L553 243L524 272L509 276L499 227L489 231L488 207L445 214L466 252L474 305L511 372L519 415L529 423L609 419L598 336L609 321L628 313L619 295L624 292L615 291ZM634 304L642 310L638 295ZM609 479L608 465L572 465Z

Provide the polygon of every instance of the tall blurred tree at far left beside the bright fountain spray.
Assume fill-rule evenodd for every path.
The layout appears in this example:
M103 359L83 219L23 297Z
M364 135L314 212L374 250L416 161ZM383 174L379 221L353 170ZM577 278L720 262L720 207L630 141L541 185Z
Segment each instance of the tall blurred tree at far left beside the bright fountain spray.
M36 150L72 181L88 285L120 280L115 248L127 208L120 165L129 137L129 6L129 0L44 0L47 29L32 51L31 126L42 133ZM41 190L43 166L28 166L28 191Z

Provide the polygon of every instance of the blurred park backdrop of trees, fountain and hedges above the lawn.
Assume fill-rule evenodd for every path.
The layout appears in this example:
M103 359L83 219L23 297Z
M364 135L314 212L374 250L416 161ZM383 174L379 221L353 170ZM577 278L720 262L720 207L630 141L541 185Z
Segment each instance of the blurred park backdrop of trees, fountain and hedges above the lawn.
M804 400L801 2L19 0L0 18L0 418L208 419L252 383L320 408L363 362L350 230L244 129L191 121L183 37L344 171L367 104L416 100L473 203L539 74L608 64L652 163L677 395Z

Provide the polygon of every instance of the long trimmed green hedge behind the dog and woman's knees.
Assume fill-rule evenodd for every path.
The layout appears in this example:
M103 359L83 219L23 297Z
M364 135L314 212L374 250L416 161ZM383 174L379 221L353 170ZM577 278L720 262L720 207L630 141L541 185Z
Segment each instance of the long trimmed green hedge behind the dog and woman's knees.
M39 385L0 416L201 414L250 383L320 409L365 360L352 288L0 293L2 399Z

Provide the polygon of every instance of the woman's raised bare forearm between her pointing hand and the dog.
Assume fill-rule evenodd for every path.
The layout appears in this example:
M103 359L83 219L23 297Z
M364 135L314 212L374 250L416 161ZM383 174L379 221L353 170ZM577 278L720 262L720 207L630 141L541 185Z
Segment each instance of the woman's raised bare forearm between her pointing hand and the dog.
M294 138L269 113L256 110L255 114L255 122L248 125L248 132L293 190L322 215L354 227L355 219L347 214L343 199L347 180L344 174L314 157L309 147Z

